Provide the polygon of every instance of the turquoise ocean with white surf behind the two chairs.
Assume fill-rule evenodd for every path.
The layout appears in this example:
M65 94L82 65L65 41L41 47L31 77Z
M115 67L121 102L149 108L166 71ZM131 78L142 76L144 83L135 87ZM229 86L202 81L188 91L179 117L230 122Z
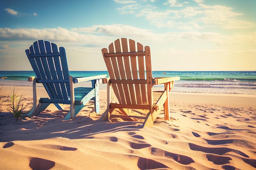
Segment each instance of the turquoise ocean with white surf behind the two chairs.
M70 71L73 77L108 74L107 71ZM0 71L1 85L32 86L34 71ZM153 71L153 77L175 77L172 92L256 95L256 71ZM106 88L106 84L100 86ZM155 88L162 88L158 85Z

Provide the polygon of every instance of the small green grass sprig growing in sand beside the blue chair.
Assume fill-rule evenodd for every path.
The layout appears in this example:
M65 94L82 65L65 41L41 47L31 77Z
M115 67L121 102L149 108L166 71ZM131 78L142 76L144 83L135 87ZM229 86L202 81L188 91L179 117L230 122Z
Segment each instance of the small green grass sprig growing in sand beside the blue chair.
M26 107L22 103L22 95L16 95L15 89L13 88L13 93L11 95L11 106L8 111L11 112L16 118L16 121L18 121L19 117L21 117L22 114L25 113L25 108Z

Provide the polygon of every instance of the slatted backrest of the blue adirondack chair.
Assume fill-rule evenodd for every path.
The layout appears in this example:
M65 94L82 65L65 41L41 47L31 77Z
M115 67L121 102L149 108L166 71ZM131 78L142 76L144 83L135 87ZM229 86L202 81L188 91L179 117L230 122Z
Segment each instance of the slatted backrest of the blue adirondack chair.
M51 99L70 104L70 80L65 49L48 41L38 40L26 50L29 62Z

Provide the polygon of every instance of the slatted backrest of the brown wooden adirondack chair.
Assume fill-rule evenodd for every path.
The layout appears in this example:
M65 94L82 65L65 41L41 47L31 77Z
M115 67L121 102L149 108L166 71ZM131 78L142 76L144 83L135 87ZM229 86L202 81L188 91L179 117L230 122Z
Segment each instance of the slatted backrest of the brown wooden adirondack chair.
M129 44L128 44L129 43ZM116 53L116 54L115 54ZM120 53L124 53L121 55ZM145 80L145 73L151 71L146 66L146 53L142 44L126 38L117 39L107 49L102 49L110 81L113 80ZM105 55L106 54L106 55ZM149 56L150 58L150 56ZM149 59L150 60L150 59ZM150 71L146 71L149 68ZM152 71L151 71L152 72ZM151 77L152 77L152 73ZM150 77L150 76L149 76ZM115 82L115 81L113 81ZM151 78L149 81L151 82ZM113 91L120 104L148 104L148 91L145 83L112 83ZM149 93L151 95L151 93Z

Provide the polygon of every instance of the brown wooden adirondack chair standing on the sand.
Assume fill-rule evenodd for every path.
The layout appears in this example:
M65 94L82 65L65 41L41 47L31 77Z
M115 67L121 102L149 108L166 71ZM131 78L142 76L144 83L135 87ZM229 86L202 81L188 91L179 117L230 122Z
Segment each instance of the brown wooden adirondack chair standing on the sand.
M164 106L165 120L170 120L168 92L173 88L173 82L180 77L153 78L151 70L150 47L134 40L121 38L111 43L108 49L101 50L110 79L108 81L108 106L101 120L110 120L110 114L115 108L128 116L128 109L149 110L143 127L153 124ZM153 103L153 85L164 84L164 90L156 103ZM111 103L111 92L114 91L119 103Z

